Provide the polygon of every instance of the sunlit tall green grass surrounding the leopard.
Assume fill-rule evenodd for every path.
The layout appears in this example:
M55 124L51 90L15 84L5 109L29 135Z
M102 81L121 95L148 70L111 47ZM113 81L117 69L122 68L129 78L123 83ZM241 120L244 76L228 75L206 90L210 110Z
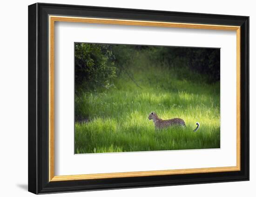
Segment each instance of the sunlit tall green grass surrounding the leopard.
M137 56L115 86L75 98L75 153L220 148L220 83L188 69L157 65ZM151 111L162 119L182 118L187 127L155 131ZM193 132L200 123L197 132Z

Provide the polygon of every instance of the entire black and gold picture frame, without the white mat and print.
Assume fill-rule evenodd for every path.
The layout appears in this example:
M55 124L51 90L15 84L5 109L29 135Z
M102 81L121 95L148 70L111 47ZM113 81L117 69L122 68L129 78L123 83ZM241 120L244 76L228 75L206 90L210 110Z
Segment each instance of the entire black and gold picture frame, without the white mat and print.
M236 166L54 175L56 21L236 31ZM55 193L249 180L249 17L36 3L28 6L28 191Z

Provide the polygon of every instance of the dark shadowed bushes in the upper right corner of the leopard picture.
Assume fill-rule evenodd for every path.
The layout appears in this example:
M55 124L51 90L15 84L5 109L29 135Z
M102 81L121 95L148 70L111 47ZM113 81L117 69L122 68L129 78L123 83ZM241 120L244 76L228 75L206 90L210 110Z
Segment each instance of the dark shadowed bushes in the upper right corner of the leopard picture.
M172 68L185 68L207 76L207 83L220 80L220 49L150 47L152 61Z

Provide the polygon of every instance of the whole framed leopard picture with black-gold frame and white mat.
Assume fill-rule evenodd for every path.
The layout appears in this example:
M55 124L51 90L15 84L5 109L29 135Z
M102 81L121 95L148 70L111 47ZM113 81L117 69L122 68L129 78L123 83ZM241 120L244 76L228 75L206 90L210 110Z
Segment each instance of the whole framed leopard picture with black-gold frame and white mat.
M28 191L249 180L249 17L28 6Z

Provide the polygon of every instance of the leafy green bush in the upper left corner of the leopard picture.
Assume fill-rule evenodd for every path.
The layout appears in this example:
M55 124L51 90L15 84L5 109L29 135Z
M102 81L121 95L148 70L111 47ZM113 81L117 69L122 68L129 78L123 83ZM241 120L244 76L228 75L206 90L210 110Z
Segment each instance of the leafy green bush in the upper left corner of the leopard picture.
M75 44L75 92L108 88L116 77L111 45Z

